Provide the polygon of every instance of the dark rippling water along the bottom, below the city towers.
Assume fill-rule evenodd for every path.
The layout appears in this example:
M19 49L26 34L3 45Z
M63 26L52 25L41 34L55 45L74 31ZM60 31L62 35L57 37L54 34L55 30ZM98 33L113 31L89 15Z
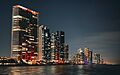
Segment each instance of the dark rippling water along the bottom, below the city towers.
M0 75L120 75L120 65L0 66Z

